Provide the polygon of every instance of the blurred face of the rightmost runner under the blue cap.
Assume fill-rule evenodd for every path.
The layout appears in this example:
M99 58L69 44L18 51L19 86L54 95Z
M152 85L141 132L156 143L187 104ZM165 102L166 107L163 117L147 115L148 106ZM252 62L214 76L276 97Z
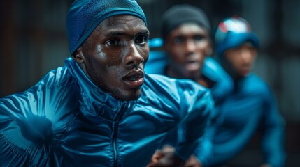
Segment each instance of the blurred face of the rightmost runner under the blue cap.
M257 49L250 42L224 52L224 68L232 77L245 77L257 56Z

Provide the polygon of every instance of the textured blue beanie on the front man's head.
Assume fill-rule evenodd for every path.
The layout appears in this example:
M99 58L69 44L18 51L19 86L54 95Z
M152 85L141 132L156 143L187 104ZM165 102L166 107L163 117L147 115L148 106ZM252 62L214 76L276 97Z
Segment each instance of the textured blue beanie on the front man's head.
M134 15L147 24L145 14L135 0L74 1L66 18L70 54L83 44L100 22L114 15Z

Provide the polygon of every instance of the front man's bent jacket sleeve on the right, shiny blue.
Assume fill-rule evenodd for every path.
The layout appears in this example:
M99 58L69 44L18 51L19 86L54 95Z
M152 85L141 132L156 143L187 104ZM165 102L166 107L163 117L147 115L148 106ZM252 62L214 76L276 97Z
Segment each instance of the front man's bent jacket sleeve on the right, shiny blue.
M199 84L185 85L183 90L178 91L182 91L181 95L185 100L180 104L182 122L178 130L176 154L186 160L194 152L199 141L208 135L206 133L214 112L214 103L210 90Z

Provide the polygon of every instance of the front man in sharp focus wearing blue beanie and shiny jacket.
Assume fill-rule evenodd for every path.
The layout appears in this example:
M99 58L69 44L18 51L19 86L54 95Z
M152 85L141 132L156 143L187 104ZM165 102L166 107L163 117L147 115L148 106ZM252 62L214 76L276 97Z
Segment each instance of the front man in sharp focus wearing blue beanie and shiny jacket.
M66 25L64 67L0 99L0 166L146 166L184 122L176 152L152 164L181 166L206 133L210 91L145 74L149 31L136 1L74 1Z

